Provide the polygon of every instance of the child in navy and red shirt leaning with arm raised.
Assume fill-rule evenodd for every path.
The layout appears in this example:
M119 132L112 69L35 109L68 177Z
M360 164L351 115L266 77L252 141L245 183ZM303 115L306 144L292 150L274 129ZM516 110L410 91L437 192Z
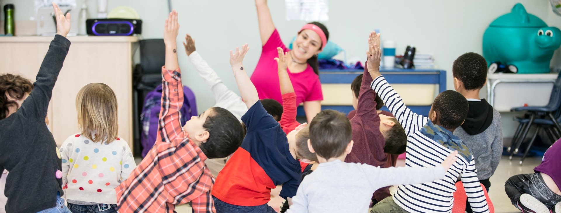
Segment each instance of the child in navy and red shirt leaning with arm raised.
M287 136L259 101L257 90L242 66L247 49L247 44L243 45L240 51L236 48L236 52L230 55L236 83L248 108L242 117L247 133L214 183L212 195L217 212L275 212L267 205L271 189L283 185L280 197L291 203L302 175L297 159L310 161L302 159L298 152L309 152L309 137L298 134L305 124ZM298 149L304 145L297 145L298 141L305 141L305 150Z

